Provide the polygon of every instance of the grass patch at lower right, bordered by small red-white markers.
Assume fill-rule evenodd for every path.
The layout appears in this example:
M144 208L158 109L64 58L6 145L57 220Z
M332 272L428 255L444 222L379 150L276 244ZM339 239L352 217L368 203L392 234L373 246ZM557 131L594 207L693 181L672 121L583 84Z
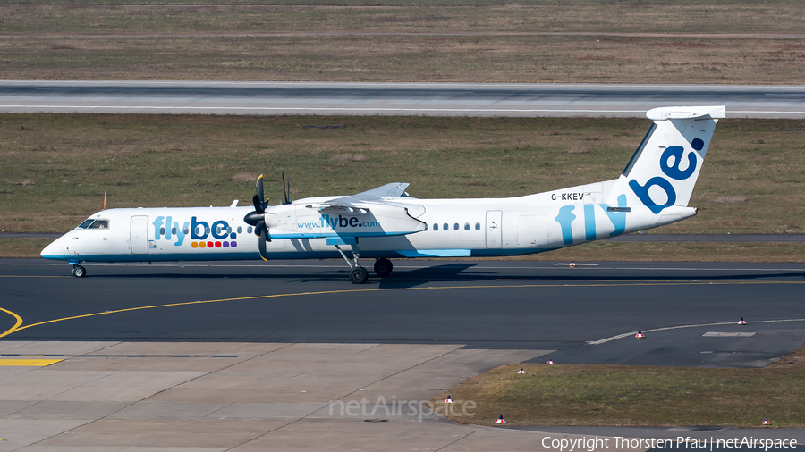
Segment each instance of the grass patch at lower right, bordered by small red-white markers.
M805 426L805 347L765 369L703 369L630 365L510 364L446 390L478 404L459 423L494 425ZM520 368L525 374L518 374ZM444 408L440 410L445 412Z

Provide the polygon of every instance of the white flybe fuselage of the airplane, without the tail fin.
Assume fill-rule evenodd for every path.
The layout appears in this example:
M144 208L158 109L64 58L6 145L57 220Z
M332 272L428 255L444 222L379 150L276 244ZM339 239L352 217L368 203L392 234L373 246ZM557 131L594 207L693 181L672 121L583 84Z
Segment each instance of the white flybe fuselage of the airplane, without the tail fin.
M618 180L563 188L526 197L418 199L405 205L398 228L367 213L324 213L309 208L323 199L267 207L267 255L275 259L335 258L327 238L358 237L361 257L504 256L539 253L606 239L688 218L692 207L657 215L643 205L602 202ZM618 203L622 204L622 203ZM615 209L613 209L613 207ZM48 259L80 262L255 260L258 237L243 207L110 209L90 219L105 228L71 230L42 251ZM269 221L269 219L275 219ZM411 224L416 228L411 229ZM408 226L406 226L408 225Z

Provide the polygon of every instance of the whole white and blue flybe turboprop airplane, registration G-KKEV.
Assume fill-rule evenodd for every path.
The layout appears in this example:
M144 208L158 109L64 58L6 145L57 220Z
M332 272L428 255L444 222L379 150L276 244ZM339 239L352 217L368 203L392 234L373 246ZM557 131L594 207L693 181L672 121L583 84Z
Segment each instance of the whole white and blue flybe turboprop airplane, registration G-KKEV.
M418 199L407 183L352 196L267 205L263 179L251 206L108 209L42 250L72 264L342 257L349 279L378 277L392 258L530 255L679 222L724 106L660 107L623 173L614 180L521 197ZM349 247L349 250L346 250ZM345 251L346 250L346 251Z

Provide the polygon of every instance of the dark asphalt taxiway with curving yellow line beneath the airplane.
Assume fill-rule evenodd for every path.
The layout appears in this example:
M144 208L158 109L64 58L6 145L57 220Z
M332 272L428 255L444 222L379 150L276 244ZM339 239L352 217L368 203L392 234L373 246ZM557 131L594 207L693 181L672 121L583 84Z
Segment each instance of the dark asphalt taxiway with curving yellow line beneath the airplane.
M68 264L0 260L0 324L19 328L5 339L445 343L739 367L805 342L803 264L398 261L363 286L337 261L86 267L79 280Z

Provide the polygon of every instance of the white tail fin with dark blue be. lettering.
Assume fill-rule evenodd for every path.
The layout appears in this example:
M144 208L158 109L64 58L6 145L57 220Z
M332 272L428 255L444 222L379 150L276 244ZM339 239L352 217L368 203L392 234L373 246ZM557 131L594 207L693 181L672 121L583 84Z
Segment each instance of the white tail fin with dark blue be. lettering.
M657 214L672 205L688 205L724 106L676 106L649 110L654 120L646 138L610 193L611 205L646 205ZM623 198L621 198L623 200Z

